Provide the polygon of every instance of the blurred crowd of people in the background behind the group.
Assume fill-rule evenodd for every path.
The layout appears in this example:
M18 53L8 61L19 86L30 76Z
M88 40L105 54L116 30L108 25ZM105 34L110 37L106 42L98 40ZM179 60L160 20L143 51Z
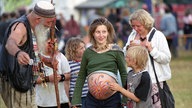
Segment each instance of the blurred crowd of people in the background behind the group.
M169 8L169 9L168 9ZM147 10L147 8L144 8ZM13 12L4 12L2 13L2 15L0 16L0 42L3 40L3 35L4 32L6 30L6 27L9 25L9 23L20 17L23 14L29 13L31 11L31 9L26 10L25 8L21 8L18 9L18 11L13 11ZM157 9L155 10L154 14L156 13ZM95 12L95 11L94 11ZM160 10L159 10L160 12ZM167 6L164 6L164 14L161 15L161 18L159 20L160 22L155 22L155 23L159 23L157 26L157 29L159 30L163 30L163 32L165 33L169 46L171 48L171 51L173 53L173 57L177 57L178 56L178 47L179 47L179 43L178 43L178 38L179 36L179 30L183 31L183 34L187 34L186 40L184 42L184 48L186 50L191 50L191 44L192 44L192 39L191 39L191 23L192 23L192 12L191 9L186 9L185 15L183 17L183 28L179 28L178 25L178 19L177 19L177 13L173 10L173 7L171 4L167 4ZM169 21L165 21L165 16L168 15L168 13L171 13L169 15L171 15L174 20L169 20L168 17L166 17L166 19L168 19ZM95 14L95 15L94 15ZM111 8L109 9L109 13L107 15L97 15L96 16L96 12L94 14L91 14L90 16L88 16L90 19L87 21L87 23L91 23L91 21L93 21L94 18L98 18L100 16L104 16L106 17L114 26L115 32L117 37L115 38L115 42L118 43L118 45L120 45L120 47L123 47L127 41L127 37L129 36L130 32L132 31L131 25L129 25L129 15L130 15L130 10L128 8ZM57 14L57 21L56 21L56 26L57 26L57 31L56 34L58 36L58 40L62 40L60 42L60 46L59 46L59 50L62 51L62 53L64 53L64 46L67 42L67 40L70 37L86 37L87 35L87 29L86 27L81 26L80 22L76 21L75 16L72 14L69 20L65 19L65 16L63 15L63 13L58 13ZM172 22L170 22L172 21ZM170 26L170 23L172 26ZM174 24L174 25L173 25ZM155 24L156 25L156 24ZM167 26L168 25L168 26ZM89 26L89 25L88 25ZM165 27L167 27L168 29L166 29ZM170 29L174 28L174 33L170 34L168 33ZM166 31L164 31L166 30ZM170 31L170 32L172 32ZM172 35L172 36L170 36ZM174 36L173 36L174 35ZM171 37L171 38L170 38ZM2 43L2 42L1 42ZM172 43L172 45L171 45Z

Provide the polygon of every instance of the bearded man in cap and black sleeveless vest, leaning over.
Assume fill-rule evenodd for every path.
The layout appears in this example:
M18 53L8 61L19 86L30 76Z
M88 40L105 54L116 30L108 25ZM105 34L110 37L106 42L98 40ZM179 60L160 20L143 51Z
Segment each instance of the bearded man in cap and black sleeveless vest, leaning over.
M55 7L50 2L38 1L31 13L21 16L9 25L4 44L7 55L4 55L3 59L1 58L1 62L8 66L5 77L2 78L1 93L7 108L37 107L33 88L32 65L29 65L29 62L35 58L32 35L36 36L38 44L36 46L41 51L44 49L42 45L45 45L47 40L45 34L54 20ZM16 61L15 64L17 65L15 66L10 59ZM25 68L29 73L19 73ZM15 69L18 69L19 72ZM11 74L16 75L16 77ZM21 80L22 84L24 82L25 85L17 85L15 79Z

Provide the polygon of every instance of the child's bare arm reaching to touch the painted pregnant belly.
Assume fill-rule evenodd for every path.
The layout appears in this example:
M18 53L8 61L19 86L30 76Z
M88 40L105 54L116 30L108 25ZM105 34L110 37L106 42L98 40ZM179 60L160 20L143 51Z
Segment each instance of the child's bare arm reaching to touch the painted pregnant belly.
M122 88L122 87L121 87L119 84L117 84L117 83L110 83L109 86L110 86L110 88L111 88L112 90L121 92L124 96L132 99L132 100L135 101L135 102L139 102L139 101L140 101L140 99L137 98L134 93L131 93L130 91Z

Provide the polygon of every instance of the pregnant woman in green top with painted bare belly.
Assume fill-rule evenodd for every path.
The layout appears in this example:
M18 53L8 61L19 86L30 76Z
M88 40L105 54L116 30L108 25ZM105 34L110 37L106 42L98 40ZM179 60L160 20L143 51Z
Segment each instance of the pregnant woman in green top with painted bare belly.
M89 92L85 102L86 108L120 108L120 93L111 90L109 83L117 83L119 70L122 84L125 86L127 70L121 48L113 43L114 28L106 18L98 18L90 25L89 36L92 46L83 54L72 106L77 108L80 104L82 87L87 78Z

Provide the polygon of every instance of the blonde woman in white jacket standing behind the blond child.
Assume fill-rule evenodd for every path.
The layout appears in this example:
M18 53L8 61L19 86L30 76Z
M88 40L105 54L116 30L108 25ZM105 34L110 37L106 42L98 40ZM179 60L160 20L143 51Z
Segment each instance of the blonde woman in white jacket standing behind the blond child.
M166 80L171 79L171 70L169 63L171 61L171 53L165 35L157 30L154 25L153 17L144 9L138 9L130 15L129 23L133 28L132 33L128 37L128 41L124 47L124 51L131 46L141 45L147 48L149 54L153 57L156 68L157 77L161 86ZM154 32L153 38L149 41L150 34ZM128 68L129 70L130 68ZM152 102L153 107L161 108L158 95L158 87L154 75L154 70L149 61L146 70L149 72L152 80Z

